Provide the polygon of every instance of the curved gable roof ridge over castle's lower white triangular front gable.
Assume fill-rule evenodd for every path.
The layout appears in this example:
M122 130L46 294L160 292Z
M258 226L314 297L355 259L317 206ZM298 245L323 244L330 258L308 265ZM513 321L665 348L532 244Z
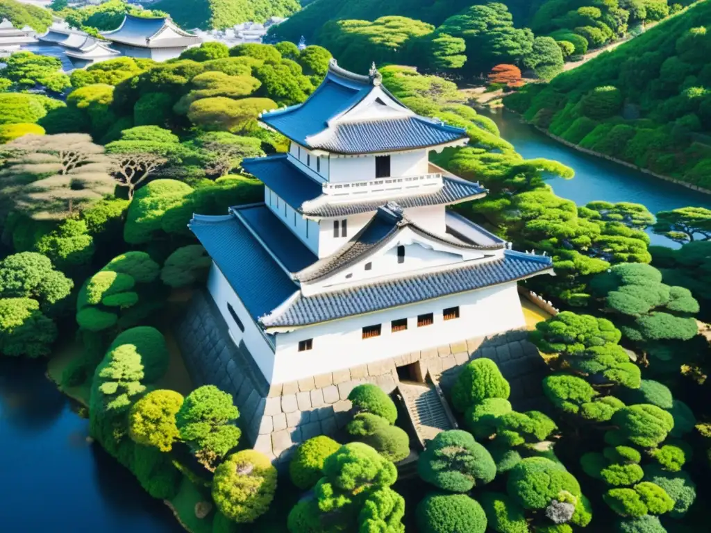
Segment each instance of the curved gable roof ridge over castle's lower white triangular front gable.
M344 244L341 249L338 249L338 252L319 259L318 262L297 272L294 278L301 282L308 282L336 274L336 272L347 269L349 266L377 252L378 249L385 247L388 242L396 239L397 235L405 229L412 230L416 235L430 241L459 249L496 250L505 247L503 241L481 246L480 244L470 244L461 240L435 235L408 220L400 205L388 202L381 206L370 222Z

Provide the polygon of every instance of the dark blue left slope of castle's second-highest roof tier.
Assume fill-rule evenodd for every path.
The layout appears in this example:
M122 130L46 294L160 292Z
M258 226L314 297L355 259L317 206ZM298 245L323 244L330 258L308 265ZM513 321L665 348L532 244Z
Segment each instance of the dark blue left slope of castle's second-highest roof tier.
M289 163L287 154L243 159L242 168L296 210L301 208L302 203L313 200L323 192L319 183Z

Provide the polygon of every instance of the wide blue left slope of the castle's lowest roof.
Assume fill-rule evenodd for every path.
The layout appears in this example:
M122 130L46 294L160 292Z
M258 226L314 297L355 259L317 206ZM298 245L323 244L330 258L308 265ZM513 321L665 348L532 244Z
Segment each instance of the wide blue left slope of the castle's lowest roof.
M194 215L189 226L255 320L299 289L235 215Z

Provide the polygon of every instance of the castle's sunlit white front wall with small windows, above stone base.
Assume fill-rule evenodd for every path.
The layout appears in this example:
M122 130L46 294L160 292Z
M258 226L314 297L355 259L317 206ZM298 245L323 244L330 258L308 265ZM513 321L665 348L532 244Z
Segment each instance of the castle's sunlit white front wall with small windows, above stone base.
M459 306L459 318L444 321L445 308ZM432 313L434 323L417 327L417 316ZM407 330L392 333L391 321L407 318ZM363 339L363 327L381 324L378 337ZM345 318L277 333L273 383L288 382L427 350L525 325L515 282L456 294L401 308ZM299 340L313 348L299 352Z

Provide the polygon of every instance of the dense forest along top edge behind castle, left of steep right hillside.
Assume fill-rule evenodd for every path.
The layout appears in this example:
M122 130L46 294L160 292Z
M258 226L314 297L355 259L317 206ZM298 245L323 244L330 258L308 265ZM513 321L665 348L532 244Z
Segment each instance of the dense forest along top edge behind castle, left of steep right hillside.
M370 5L316 0L269 34L331 50L347 68L365 63L414 65L464 80L513 63L549 80L565 60L641 31L680 6L666 0L550 0ZM525 11L525 13L524 13Z

